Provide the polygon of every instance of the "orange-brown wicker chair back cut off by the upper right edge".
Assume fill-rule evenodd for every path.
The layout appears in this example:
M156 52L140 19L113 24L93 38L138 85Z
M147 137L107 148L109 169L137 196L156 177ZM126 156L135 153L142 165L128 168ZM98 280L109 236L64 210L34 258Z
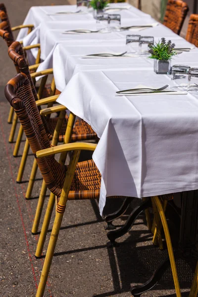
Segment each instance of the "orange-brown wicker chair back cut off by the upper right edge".
M198 14L191 14L186 40L198 47Z

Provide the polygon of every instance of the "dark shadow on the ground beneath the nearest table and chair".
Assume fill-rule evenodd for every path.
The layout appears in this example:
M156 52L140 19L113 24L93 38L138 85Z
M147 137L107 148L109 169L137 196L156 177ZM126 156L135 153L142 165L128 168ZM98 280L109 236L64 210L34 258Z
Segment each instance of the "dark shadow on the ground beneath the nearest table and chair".
M144 220L145 216L142 214L139 216L139 219ZM82 223L82 225L92 224L98 222L87 222ZM170 219L168 219L168 223L171 224ZM137 223L138 225L138 223ZM68 226L69 228L75 227ZM79 226L79 224L78 224ZM62 227L67 229L67 227ZM172 231L172 230L171 230ZM172 231L173 232L173 231ZM175 233L176 232L176 233ZM74 250L67 250L62 252L54 253L54 256L60 255L68 255L73 253L79 253L89 250L98 250L101 248L107 249L108 259L111 269L112 275L112 283L113 283L113 291L104 292L101 294L94 295L93 297L109 297L114 295L123 294L126 292L130 292L133 284L144 284L151 275L154 273L155 269L164 261L168 256L168 251L164 245L163 250L159 250L158 247L155 247L151 244L152 235L148 230L130 230L128 232L128 237L125 241L120 242L119 246L115 247L107 247L106 245L99 245L94 247L84 247ZM173 246L177 247L178 244L178 230L174 230L174 241ZM145 245L145 242L146 245ZM42 256L44 258L45 255ZM193 269L189 263L186 263L184 260L176 261L178 269L178 277L180 282L181 289L189 289L191 287L192 279L193 279ZM174 290L174 283L172 279L171 269L168 268L164 273L164 276L157 285L152 290ZM175 296L161 295L164 297ZM189 292L183 292L182 296L187 297Z

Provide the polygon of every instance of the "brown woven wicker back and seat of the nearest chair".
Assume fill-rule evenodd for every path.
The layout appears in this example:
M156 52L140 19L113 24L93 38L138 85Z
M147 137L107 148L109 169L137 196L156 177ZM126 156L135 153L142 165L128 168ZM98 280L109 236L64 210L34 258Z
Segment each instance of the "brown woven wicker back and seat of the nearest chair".
M35 156L38 150L50 148L31 84L25 74L17 74L7 83L5 97L14 107ZM36 160L47 187L55 196L60 197L67 166L58 163L54 155ZM99 170L93 160L79 162L68 199L99 198L100 180Z

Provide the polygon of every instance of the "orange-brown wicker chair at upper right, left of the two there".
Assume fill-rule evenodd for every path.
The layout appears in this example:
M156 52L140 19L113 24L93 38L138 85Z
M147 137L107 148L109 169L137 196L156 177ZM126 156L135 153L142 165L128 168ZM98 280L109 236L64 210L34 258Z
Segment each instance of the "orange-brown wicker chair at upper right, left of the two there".
M163 24L176 34L180 34L189 7L182 0L168 0Z

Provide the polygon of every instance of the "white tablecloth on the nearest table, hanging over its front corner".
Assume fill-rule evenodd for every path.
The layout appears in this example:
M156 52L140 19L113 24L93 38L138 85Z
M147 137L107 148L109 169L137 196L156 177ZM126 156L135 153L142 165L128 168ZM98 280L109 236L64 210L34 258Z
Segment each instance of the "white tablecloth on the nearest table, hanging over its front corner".
M100 141L93 159L106 196L148 197L198 189L198 98L192 95L116 97L140 83L170 82L147 70L86 71L58 98L88 122Z

